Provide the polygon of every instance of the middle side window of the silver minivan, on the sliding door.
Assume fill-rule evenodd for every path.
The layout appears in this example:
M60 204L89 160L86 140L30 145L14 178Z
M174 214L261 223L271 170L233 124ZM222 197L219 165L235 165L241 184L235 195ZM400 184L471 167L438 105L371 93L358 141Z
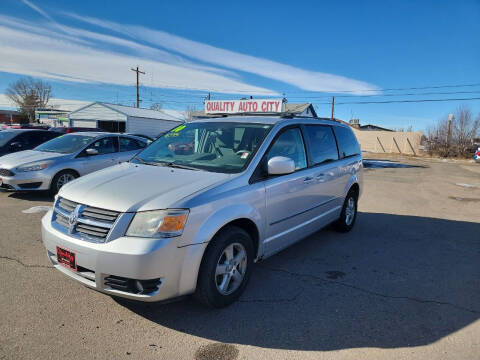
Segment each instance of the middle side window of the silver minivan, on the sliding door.
M306 125L305 133L314 165L338 160L337 142L330 126Z

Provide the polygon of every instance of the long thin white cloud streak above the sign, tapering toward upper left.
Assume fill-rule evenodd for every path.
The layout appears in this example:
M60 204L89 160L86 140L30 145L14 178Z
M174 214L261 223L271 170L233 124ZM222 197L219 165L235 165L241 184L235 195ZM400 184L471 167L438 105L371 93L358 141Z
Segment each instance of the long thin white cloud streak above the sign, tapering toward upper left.
M295 85L303 90L325 92L348 91L357 95L375 94L375 91L380 91L377 86L363 81L334 74L303 70L291 65L192 41L164 31L152 30L143 26L119 24L72 13L63 14L76 20L113 30L119 34L129 36L132 39L145 41L197 60L282 81Z

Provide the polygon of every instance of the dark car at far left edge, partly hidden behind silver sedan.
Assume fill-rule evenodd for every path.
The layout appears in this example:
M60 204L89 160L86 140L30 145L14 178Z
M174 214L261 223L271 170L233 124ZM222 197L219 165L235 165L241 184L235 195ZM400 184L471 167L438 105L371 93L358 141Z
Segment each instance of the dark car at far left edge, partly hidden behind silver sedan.
M33 149L61 134L44 130L7 129L0 133L0 156Z

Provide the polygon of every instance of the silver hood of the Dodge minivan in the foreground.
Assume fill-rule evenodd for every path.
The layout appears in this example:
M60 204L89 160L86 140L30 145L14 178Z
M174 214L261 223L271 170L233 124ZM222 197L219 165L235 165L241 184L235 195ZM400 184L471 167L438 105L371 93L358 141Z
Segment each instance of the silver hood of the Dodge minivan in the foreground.
M60 190L77 203L119 212L167 209L229 174L123 163L82 176Z

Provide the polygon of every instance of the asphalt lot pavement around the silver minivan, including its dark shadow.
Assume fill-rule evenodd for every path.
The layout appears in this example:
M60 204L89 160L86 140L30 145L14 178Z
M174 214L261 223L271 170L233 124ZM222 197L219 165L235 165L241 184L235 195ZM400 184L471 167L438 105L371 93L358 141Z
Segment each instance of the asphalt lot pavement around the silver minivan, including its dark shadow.
M256 264L221 310L66 278L41 243L52 199L1 192L0 358L479 359L480 164L390 160L366 168L352 232Z

